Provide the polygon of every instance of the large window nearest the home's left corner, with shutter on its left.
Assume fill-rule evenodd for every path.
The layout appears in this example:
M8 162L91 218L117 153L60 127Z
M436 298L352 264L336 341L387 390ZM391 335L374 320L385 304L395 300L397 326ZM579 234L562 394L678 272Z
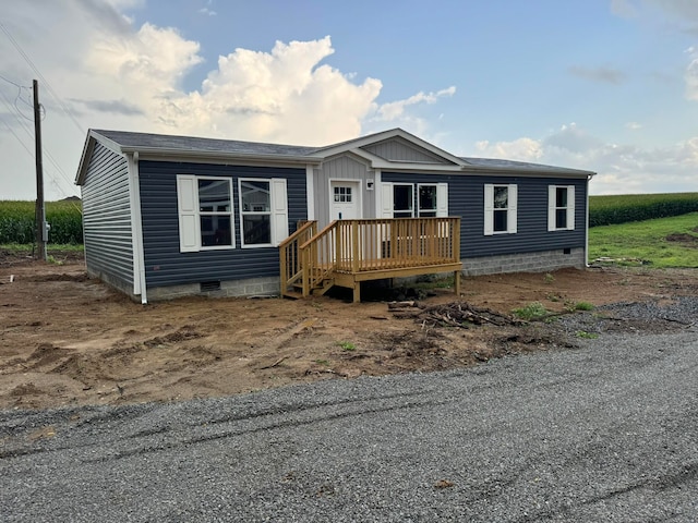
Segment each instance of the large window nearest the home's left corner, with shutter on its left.
M180 252L234 247L232 180L177 177Z

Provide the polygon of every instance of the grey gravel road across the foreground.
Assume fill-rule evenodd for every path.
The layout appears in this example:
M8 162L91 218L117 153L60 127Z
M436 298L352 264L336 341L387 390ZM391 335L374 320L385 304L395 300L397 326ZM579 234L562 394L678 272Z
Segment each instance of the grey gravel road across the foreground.
M698 330L580 345L218 400L0 412L0 521L697 521Z

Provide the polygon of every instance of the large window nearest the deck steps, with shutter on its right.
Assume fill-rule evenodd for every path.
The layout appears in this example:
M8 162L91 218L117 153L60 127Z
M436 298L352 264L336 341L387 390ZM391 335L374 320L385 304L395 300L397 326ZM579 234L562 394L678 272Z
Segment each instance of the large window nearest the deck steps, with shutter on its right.
M241 178L238 184L242 246L278 245L288 236L286 180Z

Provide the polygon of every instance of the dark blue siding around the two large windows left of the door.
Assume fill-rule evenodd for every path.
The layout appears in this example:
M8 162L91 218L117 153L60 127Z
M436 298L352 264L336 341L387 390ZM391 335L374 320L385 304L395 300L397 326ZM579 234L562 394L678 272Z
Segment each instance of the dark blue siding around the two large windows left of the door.
M238 192L240 178L286 179L290 232L296 229L298 220L308 218L305 169L141 161L139 172L143 251L148 288L278 277L278 247L241 247ZM232 179L236 248L180 253L178 174Z

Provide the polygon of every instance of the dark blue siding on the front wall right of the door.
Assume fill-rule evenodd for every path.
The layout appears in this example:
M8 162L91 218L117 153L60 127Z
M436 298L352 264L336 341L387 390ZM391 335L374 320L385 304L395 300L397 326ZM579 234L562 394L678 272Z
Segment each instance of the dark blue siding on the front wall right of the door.
M556 248L583 247L586 243L587 180L550 177L441 175L384 172L384 182L448 183L448 215L461 217L462 258L522 254ZM484 185L517 184L515 234L484 234ZM575 229L547 231L547 186L575 186Z

